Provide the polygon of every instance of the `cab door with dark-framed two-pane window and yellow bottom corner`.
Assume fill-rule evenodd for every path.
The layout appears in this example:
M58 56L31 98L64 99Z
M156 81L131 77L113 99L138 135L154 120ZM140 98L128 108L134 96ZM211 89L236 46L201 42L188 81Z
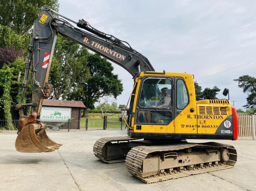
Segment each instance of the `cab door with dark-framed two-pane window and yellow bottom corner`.
M170 76L142 77L137 91L134 132L174 133L173 81L174 77Z

